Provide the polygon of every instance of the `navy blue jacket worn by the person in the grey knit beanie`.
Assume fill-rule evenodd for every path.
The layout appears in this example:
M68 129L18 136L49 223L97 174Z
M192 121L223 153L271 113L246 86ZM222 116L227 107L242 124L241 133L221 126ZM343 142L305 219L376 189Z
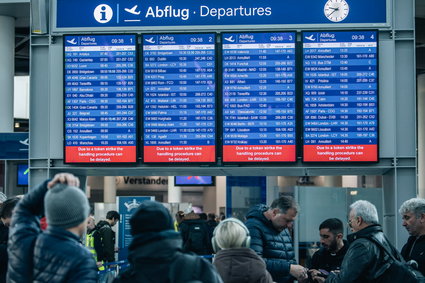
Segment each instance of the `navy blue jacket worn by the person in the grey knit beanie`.
M40 229L47 182L17 204L9 234L7 282L96 282L97 267L78 237L64 229Z

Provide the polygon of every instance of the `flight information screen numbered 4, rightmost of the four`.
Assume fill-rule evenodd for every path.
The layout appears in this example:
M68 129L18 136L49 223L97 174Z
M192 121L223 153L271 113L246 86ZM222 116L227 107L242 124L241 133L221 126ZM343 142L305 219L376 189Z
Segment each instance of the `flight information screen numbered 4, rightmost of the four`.
M378 161L375 31L304 32L303 160Z

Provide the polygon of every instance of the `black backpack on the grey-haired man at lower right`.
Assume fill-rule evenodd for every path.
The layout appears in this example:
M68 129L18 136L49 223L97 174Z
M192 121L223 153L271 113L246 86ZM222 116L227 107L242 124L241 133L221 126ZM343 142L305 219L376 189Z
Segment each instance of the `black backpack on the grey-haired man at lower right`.
M425 282L425 277L422 273L413 268L411 264L404 261L401 254L393 248L393 251L396 253L397 258L393 253L385 247L378 239L375 237L366 238L377 245L385 254L388 255L387 260L384 262L383 266L379 269L380 272L377 272L377 276L374 278L375 282L382 283L391 283L391 282L403 282L403 283L417 283ZM388 240L387 240L388 242ZM389 242L388 242L389 243Z

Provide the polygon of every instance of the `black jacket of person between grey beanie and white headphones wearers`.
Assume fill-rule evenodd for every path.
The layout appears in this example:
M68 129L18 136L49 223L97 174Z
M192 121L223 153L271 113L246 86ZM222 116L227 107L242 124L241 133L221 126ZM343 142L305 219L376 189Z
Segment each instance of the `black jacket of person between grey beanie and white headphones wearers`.
M136 235L128 250L130 267L115 283L222 282L211 263L182 252L180 233L174 230Z

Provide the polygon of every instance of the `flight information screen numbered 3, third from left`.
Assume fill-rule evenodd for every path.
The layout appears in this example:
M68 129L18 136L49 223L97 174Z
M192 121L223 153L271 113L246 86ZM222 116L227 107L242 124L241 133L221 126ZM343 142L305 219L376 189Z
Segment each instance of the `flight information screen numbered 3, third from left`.
M295 33L225 33L223 161L293 162Z

